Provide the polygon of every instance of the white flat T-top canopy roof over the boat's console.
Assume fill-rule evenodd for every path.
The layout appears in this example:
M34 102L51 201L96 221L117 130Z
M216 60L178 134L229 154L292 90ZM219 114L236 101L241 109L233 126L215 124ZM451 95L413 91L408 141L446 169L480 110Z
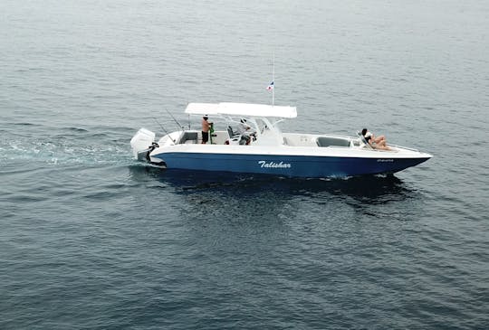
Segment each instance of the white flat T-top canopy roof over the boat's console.
M188 103L185 113L191 115L229 115L243 117L296 118L295 107L250 103Z

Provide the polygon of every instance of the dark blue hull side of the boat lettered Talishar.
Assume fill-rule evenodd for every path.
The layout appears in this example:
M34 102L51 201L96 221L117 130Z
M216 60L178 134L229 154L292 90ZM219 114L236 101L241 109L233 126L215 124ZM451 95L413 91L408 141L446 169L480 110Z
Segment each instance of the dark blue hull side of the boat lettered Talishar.
M205 153L162 153L168 169L203 170L286 177L345 177L390 174L425 162L429 157L362 158L339 156L277 156Z

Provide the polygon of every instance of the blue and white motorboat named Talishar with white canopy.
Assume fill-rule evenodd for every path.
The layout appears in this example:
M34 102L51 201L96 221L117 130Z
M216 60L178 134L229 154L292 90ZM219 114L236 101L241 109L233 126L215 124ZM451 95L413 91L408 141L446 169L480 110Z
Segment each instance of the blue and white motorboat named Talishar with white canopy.
M168 169L204 170L286 177L347 177L393 174L427 161L432 156L406 146L389 150L369 146L364 137L283 133L285 119L297 117L294 107L247 103L189 103L189 115L221 118L227 127L202 133L182 129L156 141L155 133L139 129L130 145L136 159ZM244 124L245 132L234 126Z

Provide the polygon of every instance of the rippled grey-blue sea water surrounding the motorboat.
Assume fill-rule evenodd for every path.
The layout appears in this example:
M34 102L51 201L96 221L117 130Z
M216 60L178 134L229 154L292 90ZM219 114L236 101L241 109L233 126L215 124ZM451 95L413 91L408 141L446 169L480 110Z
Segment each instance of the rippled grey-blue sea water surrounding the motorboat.
M489 327L489 3L0 3L1 329ZM394 177L132 159L187 102L434 155ZM198 125L197 120L190 119Z

